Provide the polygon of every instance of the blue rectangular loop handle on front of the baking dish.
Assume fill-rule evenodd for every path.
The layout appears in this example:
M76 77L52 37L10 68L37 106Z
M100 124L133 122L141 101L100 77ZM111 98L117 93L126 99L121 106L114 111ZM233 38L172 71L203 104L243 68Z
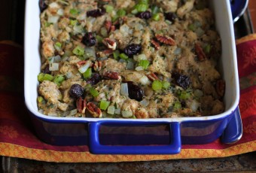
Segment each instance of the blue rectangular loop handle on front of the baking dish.
M175 154L181 151L180 124L172 122L170 126L170 143L166 145L102 145L99 143L99 127L102 122L89 123L89 147L91 153L98 154ZM118 122L118 125L126 122ZM142 123L138 123L142 125ZM143 123L143 125L151 123Z

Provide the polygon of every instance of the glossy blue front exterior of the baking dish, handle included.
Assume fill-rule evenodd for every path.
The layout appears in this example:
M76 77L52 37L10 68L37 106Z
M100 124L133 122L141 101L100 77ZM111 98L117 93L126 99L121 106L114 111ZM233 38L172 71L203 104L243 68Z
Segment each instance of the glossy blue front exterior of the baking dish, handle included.
M53 145L88 145L92 153L171 154L181 144L207 144L221 137L237 141L242 133L238 108L215 120L147 122L47 120L32 115L38 138ZM232 135L233 134L233 135Z

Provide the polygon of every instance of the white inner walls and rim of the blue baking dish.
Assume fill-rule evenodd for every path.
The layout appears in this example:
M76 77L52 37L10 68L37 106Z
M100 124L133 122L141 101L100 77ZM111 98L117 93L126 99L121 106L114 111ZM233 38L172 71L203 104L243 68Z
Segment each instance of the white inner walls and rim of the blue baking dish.
M184 120L214 120L226 117L236 109L239 103L239 80L236 64L236 46L233 35L233 20L230 11L230 0L209 0L212 11L215 13L215 26L221 35L221 61L219 67L221 74L226 81L226 90L224 96L225 111L222 114L209 117L181 117L181 118L160 118L147 120L130 121L154 121L154 122L181 122ZM26 24L25 24L25 102L26 106L37 117L47 120L117 120L126 121L127 119L100 119L100 118L77 118L77 117L50 117L38 113L38 79L40 73L40 10L38 1L26 1Z

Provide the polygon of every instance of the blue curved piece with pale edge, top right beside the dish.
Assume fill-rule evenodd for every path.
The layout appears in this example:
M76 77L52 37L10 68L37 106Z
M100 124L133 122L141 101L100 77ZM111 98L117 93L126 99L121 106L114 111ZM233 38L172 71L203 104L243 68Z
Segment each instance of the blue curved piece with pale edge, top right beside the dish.
M248 0L230 0L230 6L232 11L233 21L239 19L242 14L245 12L245 8L247 8Z

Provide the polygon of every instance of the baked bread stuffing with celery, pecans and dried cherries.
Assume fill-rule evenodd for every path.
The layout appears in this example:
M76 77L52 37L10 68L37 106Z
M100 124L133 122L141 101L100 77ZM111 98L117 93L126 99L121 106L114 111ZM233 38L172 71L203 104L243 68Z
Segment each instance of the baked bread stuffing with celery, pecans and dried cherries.
M203 0L44 0L38 109L59 117L224 111L221 39Z

